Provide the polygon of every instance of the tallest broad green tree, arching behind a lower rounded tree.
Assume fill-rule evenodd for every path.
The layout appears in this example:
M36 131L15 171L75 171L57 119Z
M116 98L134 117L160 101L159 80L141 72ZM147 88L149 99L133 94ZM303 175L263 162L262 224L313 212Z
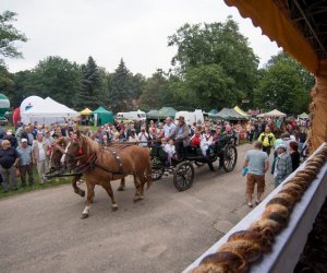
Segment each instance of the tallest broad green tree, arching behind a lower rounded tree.
M253 104L258 58L231 17L225 23L185 24L168 40L169 46L178 47L172 66L181 79L190 69L218 64L226 75L233 79L233 86L229 91L234 97L233 102L239 104L247 98Z

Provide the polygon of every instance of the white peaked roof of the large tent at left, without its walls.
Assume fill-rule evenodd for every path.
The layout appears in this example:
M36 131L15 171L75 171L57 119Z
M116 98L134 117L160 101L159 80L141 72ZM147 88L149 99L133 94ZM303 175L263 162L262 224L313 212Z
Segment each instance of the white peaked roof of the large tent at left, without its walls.
M28 117L77 117L80 114L50 97L36 103L24 112Z

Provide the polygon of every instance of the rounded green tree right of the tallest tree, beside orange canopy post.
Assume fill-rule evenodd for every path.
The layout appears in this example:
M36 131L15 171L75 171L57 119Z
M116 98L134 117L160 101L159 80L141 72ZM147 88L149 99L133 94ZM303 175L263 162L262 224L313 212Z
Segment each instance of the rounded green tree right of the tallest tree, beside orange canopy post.
M257 105L265 110L279 109L288 114L307 111L313 76L287 54L274 56L261 72L255 94Z

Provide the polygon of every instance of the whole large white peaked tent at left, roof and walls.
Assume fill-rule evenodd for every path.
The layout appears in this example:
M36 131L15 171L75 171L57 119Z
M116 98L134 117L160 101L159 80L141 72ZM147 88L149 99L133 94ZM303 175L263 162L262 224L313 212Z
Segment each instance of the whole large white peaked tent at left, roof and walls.
M32 108L24 111L28 122L33 123L63 123L66 119L78 117L80 114L65 105L59 104L50 97L35 104Z

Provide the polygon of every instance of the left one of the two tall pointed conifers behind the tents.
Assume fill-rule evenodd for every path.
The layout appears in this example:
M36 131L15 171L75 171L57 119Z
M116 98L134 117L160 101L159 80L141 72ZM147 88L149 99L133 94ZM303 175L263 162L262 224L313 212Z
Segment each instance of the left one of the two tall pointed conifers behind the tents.
M100 105L100 91L102 81L98 66L89 56L87 63L82 66L82 88L77 94L77 105L80 108L89 107L93 110Z

